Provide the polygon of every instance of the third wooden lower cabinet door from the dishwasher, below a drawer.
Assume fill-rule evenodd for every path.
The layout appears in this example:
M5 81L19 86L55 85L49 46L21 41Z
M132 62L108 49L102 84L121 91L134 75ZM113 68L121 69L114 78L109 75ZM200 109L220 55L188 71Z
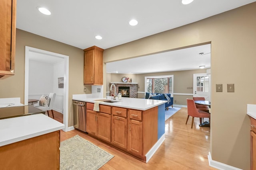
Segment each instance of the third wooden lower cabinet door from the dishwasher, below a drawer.
M127 119L124 117L112 117L112 143L118 147L127 149Z

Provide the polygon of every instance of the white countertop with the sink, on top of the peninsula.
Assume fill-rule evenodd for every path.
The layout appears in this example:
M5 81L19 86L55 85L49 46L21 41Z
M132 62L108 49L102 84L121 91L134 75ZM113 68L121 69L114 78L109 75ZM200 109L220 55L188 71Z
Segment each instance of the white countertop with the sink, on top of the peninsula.
M106 99L106 98L91 98L90 96L86 96L82 94L73 95L73 100L78 100L82 102L94 103L95 100L99 100L99 99ZM130 109L147 110L167 102L166 100L152 100L152 99L138 99L138 98L124 98L124 97L122 97L121 100L113 100L113 101L120 101L120 102L115 102L115 103L101 102L100 104L117 106L117 107L125 107Z

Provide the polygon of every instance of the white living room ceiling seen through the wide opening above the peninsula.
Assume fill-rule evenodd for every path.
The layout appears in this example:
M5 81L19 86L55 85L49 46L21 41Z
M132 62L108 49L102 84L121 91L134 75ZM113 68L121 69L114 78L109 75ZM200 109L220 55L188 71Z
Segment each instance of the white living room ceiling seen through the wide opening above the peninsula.
M143 74L151 72L194 70L199 69L199 66L210 68L210 52L210 44L201 45L107 63L106 70L109 73L118 74ZM204 53L204 55L200 55L199 53Z

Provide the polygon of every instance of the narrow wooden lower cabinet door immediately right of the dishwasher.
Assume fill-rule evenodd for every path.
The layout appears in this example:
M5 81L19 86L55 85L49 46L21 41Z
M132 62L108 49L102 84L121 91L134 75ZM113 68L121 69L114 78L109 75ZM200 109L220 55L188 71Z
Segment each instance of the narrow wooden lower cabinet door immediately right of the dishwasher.
M96 135L97 130L97 113L96 111L86 110L86 132Z

